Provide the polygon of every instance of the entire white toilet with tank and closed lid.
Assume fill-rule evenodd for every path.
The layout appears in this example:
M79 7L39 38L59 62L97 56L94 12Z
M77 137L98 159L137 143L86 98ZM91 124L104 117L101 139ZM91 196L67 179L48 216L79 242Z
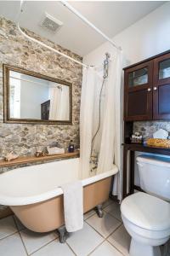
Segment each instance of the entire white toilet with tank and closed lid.
M148 194L138 192L122 201L122 221L132 236L129 254L161 256L159 246L170 238L170 159L140 155L137 164L140 187Z

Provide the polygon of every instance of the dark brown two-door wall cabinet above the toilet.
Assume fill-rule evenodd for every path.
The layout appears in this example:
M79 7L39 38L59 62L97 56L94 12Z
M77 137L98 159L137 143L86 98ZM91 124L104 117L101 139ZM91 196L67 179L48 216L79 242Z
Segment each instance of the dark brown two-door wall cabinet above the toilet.
M170 53L125 68L124 119L170 119Z

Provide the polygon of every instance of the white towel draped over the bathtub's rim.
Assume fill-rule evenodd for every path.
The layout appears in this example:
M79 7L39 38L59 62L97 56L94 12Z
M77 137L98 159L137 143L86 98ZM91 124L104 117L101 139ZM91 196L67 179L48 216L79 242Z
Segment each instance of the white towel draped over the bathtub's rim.
M76 181L61 186L64 193L65 228L68 232L83 227L82 182Z

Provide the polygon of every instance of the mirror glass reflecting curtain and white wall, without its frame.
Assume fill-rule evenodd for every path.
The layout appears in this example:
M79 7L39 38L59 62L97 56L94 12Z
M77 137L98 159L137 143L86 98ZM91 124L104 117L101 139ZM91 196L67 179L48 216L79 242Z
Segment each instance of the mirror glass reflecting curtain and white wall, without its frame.
M69 121L70 86L9 70L9 118Z

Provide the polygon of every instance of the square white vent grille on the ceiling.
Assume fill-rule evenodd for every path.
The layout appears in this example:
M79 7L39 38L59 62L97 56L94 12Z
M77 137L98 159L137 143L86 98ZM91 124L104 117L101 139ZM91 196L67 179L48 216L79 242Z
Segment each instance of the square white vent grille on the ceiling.
M53 16L45 13L45 17L41 22L41 26L48 29L50 32L57 32L63 26L63 22L55 19Z

